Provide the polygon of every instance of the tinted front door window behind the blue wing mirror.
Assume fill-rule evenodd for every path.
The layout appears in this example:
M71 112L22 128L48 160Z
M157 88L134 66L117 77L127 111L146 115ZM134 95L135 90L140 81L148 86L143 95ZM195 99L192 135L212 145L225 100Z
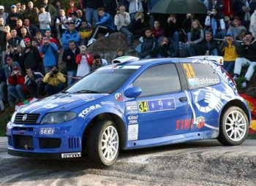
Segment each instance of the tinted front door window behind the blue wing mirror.
M151 96L181 90L181 83L175 64L163 64L146 69L133 83L140 87L140 96Z

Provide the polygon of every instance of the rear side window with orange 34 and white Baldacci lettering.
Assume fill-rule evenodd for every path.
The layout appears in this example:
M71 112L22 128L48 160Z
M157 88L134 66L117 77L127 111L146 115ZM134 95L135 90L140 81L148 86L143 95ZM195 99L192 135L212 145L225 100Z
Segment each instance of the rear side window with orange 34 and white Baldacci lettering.
M219 75L209 64L183 63L182 68L190 89L217 85L220 82Z

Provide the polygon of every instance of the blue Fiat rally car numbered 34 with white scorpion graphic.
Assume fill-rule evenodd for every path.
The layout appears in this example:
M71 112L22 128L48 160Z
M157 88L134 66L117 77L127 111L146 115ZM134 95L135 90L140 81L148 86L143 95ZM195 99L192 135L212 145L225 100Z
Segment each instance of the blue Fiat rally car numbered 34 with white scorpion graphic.
M81 158L110 166L119 150L215 139L238 145L251 115L236 85L209 60L165 58L104 66L18 109L8 153Z

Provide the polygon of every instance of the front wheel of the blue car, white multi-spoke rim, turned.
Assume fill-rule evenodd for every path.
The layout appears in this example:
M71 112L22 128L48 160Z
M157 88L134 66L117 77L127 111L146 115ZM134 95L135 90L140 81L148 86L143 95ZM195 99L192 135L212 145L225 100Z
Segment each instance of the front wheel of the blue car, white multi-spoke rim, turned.
M110 120L95 123L89 131L87 152L93 163L110 166L118 157L119 136L116 124Z

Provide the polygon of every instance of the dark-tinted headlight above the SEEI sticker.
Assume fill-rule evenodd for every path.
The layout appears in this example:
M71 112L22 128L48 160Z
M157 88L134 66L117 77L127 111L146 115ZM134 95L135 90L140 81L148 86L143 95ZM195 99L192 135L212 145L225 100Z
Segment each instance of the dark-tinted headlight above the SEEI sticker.
M70 120L74 120L75 117L77 117L75 112L50 112L42 118L40 124L64 123Z

